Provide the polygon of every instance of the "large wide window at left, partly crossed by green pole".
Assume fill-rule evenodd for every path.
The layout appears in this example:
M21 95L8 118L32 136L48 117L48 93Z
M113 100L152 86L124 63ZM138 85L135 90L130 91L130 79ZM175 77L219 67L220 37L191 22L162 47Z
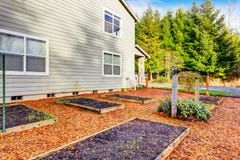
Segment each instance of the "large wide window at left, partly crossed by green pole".
M0 62L3 54L7 73L48 73L47 40L0 29Z

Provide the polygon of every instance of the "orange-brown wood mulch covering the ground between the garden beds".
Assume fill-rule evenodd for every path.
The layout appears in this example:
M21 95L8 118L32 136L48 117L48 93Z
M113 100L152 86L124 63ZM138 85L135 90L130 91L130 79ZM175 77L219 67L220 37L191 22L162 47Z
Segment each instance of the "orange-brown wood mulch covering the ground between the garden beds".
M134 117L190 128L189 135L167 159L240 159L240 98L225 98L221 105L212 111L212 117L205 123L181 121L156 112L159 101L167 95L170 96L170 91L144 89L116 94L151 97L156 102L143 105L103 99L100 97L101 94L81 95L125 104L123 110L101 115L55 104L55 99L23 102L21 104L57 117L58 123L1 135L0 159L29 159ZM194 98L194 95L180 93L179 97L187 99Z

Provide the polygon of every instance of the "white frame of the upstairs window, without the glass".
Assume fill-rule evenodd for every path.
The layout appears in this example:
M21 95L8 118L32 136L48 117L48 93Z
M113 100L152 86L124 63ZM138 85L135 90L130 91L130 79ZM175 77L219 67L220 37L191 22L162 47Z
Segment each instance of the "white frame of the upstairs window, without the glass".
M108 32L105 31L105 11L106 11L106 12L109 12L109 13L111 13L111 14L113 15L113 16L112 16L112 18L113 18L113 24L112 24L112 25L113 25L113 33L108 33ZM120 35L119 35L119 36L117 36L117 35L114 34L114 16L117 16L117 17L120 18ZM117 14L117 13L115 13L115 12L112 12L111 10L106 9L106 8L103 9L103 32L104 32L105 34L110 35L110 36L113 36L113 37L115 37L115 38L122 38L122 35L123 35L122 21L123 21L123 18L122 18L122 16L120 16L119 14Z

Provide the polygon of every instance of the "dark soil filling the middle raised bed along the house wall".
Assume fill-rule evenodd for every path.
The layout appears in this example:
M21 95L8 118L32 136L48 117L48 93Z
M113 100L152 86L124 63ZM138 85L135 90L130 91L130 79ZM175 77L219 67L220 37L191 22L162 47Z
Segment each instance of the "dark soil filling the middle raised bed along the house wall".
M88 98L69 99L69 103L75 103L75 104L89 106L97 109L109 108L109 107L120 105L118 103L103 102L103 101L98 101L98 100L88 99Z

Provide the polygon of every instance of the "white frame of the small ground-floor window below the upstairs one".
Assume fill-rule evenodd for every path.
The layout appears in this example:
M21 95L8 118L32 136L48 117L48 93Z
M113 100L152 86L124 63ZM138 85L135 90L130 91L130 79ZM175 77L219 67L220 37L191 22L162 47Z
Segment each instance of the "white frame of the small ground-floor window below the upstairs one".
M111 65L112 66L112 74L111 75L109 75L109 74L104 74L104 64L105 64L105 62L104 62L104 54L111 54L112 55L112 57L113 57L113 55L116 55L116 56L119 56L120 57L120 75L114 75L113 74L113 66L114 66L114 64L108 64L108 65ZM113 59L112 59L112 62L113 62ZM116 66L116 65L115 65ZM122 55L121 54L119 54L119 53L113 53L113 52L109 52L109 51L102 51L102 76L103 77L122 77Z

